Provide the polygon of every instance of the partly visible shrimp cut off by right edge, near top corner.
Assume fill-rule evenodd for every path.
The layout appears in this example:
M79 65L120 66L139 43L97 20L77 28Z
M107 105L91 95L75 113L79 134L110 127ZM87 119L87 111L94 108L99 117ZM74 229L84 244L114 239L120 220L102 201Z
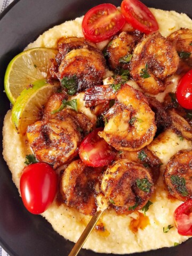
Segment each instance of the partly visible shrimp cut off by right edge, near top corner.
M192 67L192 30L182 28L172 33L168 39L177 50L180 60L187 62Z

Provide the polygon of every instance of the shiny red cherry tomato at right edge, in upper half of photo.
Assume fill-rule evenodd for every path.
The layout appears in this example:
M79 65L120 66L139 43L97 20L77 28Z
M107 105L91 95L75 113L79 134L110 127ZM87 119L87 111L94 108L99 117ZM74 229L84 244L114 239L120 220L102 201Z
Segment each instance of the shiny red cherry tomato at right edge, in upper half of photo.
M192 109L192 69L179 81L176 97L183 108Z

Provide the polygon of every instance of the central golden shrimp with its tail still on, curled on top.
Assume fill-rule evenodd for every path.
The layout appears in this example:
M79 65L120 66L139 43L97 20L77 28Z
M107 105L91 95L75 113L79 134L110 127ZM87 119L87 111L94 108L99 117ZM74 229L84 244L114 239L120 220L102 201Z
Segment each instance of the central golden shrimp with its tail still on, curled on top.
M87 106L109 99L115 99L115 104L105 114L106 125L99 136L117 150L137 151L147 146L154 138L156 125L155 113L145 96L127 84L116 93L109 85L96 86L84 96Z

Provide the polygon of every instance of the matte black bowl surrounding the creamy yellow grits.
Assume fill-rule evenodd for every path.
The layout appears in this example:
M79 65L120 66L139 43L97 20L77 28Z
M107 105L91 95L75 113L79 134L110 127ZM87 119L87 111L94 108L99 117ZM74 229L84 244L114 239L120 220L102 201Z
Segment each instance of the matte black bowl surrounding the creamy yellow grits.
M46 29L63 21L79 17L92 6L104 2L113 3L116 6L121 3L121 1L114 0L15 0L9 6L9 9L0 15L1 141L3 118L10 107L9 100L3 92L3 79L7 64ZM192 17L191 0L143 0L143 3L149 7L184 12ZM2 143L0 150L2 153ZM0 156L0 244L11 256L66 256L74 245L55 233L51 225L41 216L30 214L23 207L18 190L11 180L11 173L3 160L2 154ZM192 255L191 251L192 239L189 239L186 243L169 249L164 248L129 255L189 256ZM81 250L79 255L101 256L102 254Z

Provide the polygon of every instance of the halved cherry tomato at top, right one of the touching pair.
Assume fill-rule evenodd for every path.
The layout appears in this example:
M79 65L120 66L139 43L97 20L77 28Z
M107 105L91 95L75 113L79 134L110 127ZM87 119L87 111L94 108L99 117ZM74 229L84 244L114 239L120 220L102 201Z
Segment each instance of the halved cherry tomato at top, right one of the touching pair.
M125 20L143 33L150 33L158 30L158 23L148 9L148 7L139 0L123 0L121 11Z

